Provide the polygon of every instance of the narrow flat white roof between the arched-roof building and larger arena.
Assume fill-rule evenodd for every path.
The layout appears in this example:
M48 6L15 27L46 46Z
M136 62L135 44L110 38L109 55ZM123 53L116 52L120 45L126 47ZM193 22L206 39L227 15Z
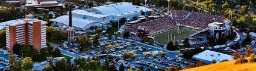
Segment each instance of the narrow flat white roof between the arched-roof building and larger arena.
M107 15L104 15L104 14L96 14L96 13L88 12L86 10L73 10L72 13L86 15L86 16L92 16L92 17L97 17L97 18L108 17Z

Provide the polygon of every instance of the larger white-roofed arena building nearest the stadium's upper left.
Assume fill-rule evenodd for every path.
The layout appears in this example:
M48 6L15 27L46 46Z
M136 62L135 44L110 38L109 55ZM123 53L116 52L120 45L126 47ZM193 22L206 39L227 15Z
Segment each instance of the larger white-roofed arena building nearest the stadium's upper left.
M129 2L120 2L117 4L103 5L99 7L89 8L87 10L93 13L108 15L111 17L112 20L117 20L118 18L120 19L122 17L133 18L140 15L145 15L145 12L147 16L154 14L154 10L133 5Z

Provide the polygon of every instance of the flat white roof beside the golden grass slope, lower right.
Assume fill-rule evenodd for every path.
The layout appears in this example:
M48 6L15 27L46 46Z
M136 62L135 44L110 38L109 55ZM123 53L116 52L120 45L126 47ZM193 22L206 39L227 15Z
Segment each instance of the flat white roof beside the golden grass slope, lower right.
M210 51L210 50L205 50L202 53L193 55L193 58L199 58L199 59L207 60L207 61L213 61L213 59L215 59L217 61L217 63L219 63L222 60L233 60L232 55L218 53L218 52Z

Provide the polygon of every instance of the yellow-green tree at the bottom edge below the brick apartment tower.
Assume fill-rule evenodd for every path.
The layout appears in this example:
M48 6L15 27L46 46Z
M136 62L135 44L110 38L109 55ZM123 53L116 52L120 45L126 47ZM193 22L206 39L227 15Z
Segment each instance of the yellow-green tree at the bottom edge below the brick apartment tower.
M32 70L33 66L34 65L33 65L32 58L25 57L22 64L23 70Z

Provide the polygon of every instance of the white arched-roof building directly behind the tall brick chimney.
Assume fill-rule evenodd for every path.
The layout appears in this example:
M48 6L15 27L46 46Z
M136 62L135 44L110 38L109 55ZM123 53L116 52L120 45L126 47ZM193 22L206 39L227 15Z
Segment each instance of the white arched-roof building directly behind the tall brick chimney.
M50 19L55 26L63 26L69 24L69 16L60 16L54 19ZM98 21L93 21L89 19L83 19L83 18L77 18L72 17L72 26L76 30L88 30L90 27L102 27L102 23L99 23Z

